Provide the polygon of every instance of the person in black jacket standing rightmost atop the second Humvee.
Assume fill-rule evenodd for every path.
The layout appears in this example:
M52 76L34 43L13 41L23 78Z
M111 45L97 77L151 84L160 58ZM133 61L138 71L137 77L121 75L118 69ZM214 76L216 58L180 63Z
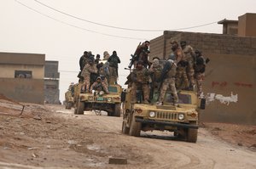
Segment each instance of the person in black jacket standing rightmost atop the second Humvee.
M116 51L108 58L109 63L109 84L117 84L117 79L119 76L119 63L121 63Z

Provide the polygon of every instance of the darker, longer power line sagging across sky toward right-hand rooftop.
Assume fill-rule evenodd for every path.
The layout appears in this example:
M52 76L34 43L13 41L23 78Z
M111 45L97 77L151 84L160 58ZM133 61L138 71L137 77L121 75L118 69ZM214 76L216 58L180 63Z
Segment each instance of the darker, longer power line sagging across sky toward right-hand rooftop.
M189 27L183 27L183 28L177 28L177 29L168 29L168 30L146 30L146 29L134 29L134 28L125 28L125 27L118 27L118 26L114 26L114 25L105 25L105 24L101 24L101 23L97 23L97 22L94 22L94 21L90 21L90 20L84 20L82 18L79 18L78 16L74 16L73 14L67 14L59 9L56 9L56 8L53 8L53 7L50 7L49 5L45 4L45 3L42 3L38 0L34 0L36 3L39 3L41 5L44 5L44 7L47 7L47 8L50 8L52 10L54 10L55 12L58 12L58 13L61 13L61 14L65 14L69 17L72 17L74 19L77 19L77 20L82 20L82 21L85 21L85 22L88 22L90 24L95 24L95 25L102 25L102 26L105 26L105 27L109 27L109 28L114 28L114 29L119 29L119 30L125 30L125 31L179 31L179 30L188 30L188 29L192 29L192 28L197 28L197 27L201 27L201 26L205 26L205 25L212 25L212 24L216 24L218 21L214 21L214 22L211 22L211 23L207 23L207 24L203 24L203 25L195 25L195 26L189 26Z

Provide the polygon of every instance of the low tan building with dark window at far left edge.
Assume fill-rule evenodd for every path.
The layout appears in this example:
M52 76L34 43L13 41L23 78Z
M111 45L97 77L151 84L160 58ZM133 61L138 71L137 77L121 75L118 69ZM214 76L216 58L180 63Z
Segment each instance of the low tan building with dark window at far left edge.
M44 104L44 54L0 53L0 93L20 102Z

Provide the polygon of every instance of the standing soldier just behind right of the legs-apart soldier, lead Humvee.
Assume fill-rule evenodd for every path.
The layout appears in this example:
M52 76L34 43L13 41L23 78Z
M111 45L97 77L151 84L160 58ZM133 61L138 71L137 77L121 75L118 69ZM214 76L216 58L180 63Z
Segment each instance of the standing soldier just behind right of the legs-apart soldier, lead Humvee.
M189 79L186 73L188 62L185 60L185 54L183 53L183 49L179 47L177 41L172 41L171 45L175 56L174 62L177 64L176 86L177 88L188 88Z

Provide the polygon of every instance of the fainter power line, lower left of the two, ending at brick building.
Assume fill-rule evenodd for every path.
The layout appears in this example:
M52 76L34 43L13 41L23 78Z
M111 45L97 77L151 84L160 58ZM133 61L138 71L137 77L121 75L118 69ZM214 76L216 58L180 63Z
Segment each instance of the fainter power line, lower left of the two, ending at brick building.
M85 29L85 28L79 27L79 26L77 26L77 25L72 25L72 24L68 24L67 22L64 22L64 21L61 21L61 20L57 20L57 19L55 19L55 18L53 18L53 17L51 17L51 16L49 16L49 15L47 15L47 14L43 14L43 13L41 13L40 11L38 11L38 10L36 10L36 9L34 9L34 8L31 8L31 7L27 6L27 5L24 4L24 3L21 3L21 2L18 1L18 0L15 0L15 2L16 2L16 3L20 3L20 5L22 5L22 6L26 7L26 8L29 8L29 9L31 9L32 11L34 11L34 12L36 12L36 13L38 13L38 14L42 14L42 15L44 15L45 17L47 17L47 18L49 18L49 19L51 19L51 20L55 20L55 21L57 21L57 22L60 22L61 24L69 25L69 26L78 28L78 29L83 30L83 31L90 31L90 32L97 33L97 34L101 34L101 35L108 36L108 37L118 37L118 38L133 39L133 40L146 40L145 38L122 37L122 36L116 36L116 35L112 35L112 34L102 33L102 32L100 32L100 31L92 31L92 30L89 30L89 29Z

